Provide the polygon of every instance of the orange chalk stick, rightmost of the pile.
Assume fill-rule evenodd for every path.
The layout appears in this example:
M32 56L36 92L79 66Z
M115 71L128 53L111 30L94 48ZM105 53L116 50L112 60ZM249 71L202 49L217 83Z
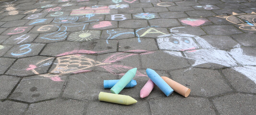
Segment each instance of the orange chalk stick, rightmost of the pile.
M174 92L178 92L179 94L183 95L184 97L187 97L190 93L190 89L183 86L182 84L171 80L168 77L161 77L173 90Z

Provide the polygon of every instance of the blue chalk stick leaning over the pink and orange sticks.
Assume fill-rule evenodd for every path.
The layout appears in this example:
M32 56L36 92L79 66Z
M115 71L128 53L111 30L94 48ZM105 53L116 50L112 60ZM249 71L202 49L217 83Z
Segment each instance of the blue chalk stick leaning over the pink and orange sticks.
M166 96L169 96L173 92L173 89L171 89L156 71L153 69L146 69L146 74Z

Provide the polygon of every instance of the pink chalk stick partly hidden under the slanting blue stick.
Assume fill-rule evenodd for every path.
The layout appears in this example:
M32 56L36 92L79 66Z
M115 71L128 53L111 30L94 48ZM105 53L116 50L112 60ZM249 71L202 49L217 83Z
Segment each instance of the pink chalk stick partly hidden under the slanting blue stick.
M155 83L149 79L146 82L146 84L143 86L143 88L140 90L140 98L147 97L150 94L150 92L153 90L154 86L155 86Z

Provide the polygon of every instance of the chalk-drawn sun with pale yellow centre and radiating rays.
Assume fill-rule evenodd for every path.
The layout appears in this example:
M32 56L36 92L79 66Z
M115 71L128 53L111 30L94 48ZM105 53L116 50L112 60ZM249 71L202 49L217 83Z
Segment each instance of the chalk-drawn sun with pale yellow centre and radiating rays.
M73 32L69 35L69 41L88 41L92 39L99 39L100 31L99 30L85 30L85 31L78 31Z

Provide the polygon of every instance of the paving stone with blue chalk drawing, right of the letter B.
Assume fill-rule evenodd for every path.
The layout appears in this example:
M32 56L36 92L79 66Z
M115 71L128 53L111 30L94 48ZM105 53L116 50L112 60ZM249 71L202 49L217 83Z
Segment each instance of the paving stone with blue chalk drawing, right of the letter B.
M158 13L151 13L151 12L146 12L146 13L134 13L133 14L133 19L143 19L143 20L149 20L149 19L155 19L155 18L160 18Z

